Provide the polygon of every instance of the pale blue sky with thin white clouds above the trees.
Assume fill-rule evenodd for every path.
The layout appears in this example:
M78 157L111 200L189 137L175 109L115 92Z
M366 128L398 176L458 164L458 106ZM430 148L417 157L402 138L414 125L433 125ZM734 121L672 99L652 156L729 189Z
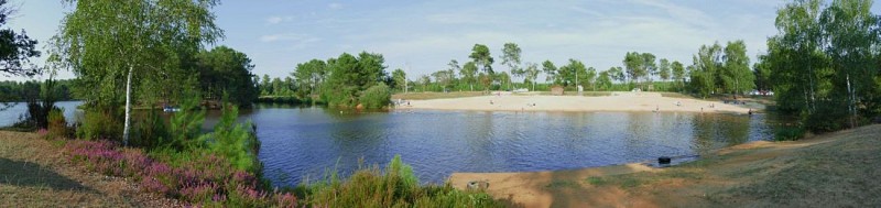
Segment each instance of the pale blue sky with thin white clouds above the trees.
M15 30L46 43L68 9L59 0L13 0ZM751 61L776 34L774 18L784 1L772 0L591 0L591 1L222 1L214 9L226 39L219 44L253 61L257 75L283 77L297 63L361 51L383 54L389 72L404 68L410 79L467 61L475 43L498 61L513 42L523 62L568 58L606 70L621 66L624 53L650 52L692 64L701 44L747 43ZM879 6L872 8L879 12ZM36 61L43 64L43 58ZM69 78L70 73L63 73ZM17 79L0 77L0 79Z

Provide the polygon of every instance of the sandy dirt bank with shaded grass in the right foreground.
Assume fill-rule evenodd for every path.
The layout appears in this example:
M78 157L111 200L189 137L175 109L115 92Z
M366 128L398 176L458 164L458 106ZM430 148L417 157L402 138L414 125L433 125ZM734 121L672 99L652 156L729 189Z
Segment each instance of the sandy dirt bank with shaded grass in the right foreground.
M881 124L797 142L754 142L679 166L456 173L461 189L515 207L880 207Z

